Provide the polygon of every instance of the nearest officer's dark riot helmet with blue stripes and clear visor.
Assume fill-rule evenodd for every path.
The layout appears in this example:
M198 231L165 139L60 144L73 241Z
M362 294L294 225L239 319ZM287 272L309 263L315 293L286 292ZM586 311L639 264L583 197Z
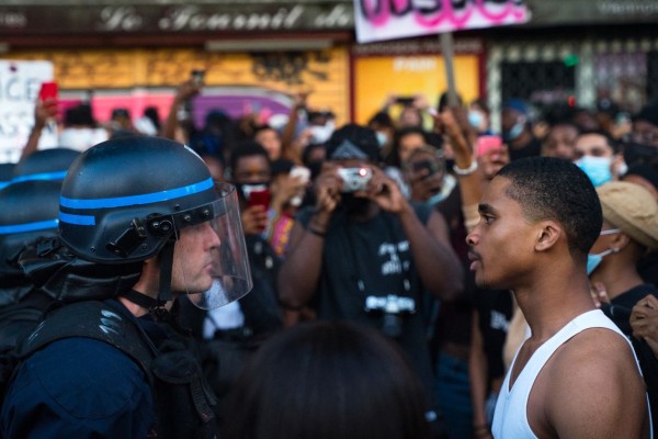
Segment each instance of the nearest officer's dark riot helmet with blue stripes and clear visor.
M207 237L217 244L201 269L191 268L190 260L174 258L174 243L201 229L212 229ZM173 140L121 137L82 153L63 183L59 232L71 251L88 261L122 264L158 257L160 302L171 300L172 273L183 283L198 272L209 274L204 274L207 282L175 291L206 309L251 289L235 188L215 183L205 162Z

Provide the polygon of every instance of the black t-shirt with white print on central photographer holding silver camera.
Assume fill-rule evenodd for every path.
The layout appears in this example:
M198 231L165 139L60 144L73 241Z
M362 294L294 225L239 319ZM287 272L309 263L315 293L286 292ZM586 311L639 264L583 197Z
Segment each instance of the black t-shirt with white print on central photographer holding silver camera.
M415 209L424 223L430 207L415 205ZM310 209L298 214L305 227L310 214ZM325 238L320 280L311 303L318 318L350 320L381 329L382 312L366 312L366 297L395 295L413 300L416 312L402 315L402 333L397 341L421 380L431 385L422 291L409 241L395 215L381 211L371 219L356 222L342 210L333 213Z

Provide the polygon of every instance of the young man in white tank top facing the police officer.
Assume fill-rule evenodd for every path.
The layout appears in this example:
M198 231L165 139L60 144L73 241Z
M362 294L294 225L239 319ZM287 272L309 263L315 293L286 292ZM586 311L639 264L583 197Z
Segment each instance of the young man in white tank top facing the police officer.
M645 385L628 340L590 296L587 255L601 232L597 192L575 165L506 166L468 235L479 286L510 289L531 328L502 384L497 438L645 438Z

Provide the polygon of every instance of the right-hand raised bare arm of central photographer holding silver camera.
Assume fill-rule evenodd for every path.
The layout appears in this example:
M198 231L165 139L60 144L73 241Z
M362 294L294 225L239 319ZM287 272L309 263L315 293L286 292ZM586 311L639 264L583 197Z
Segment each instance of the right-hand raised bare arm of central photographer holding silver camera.
M463 268L450 244L445 219L439 212L433 211L427 226L423 225L397 183L378 168L373 169L368 190L354 195L367 196L381 209L397 215L424 288L443 300L452 300L462 291Z

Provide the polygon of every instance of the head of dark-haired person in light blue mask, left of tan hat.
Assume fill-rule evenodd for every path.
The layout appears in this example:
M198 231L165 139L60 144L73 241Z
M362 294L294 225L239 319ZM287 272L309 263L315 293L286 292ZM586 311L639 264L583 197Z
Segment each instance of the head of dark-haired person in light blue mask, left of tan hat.
M627 170L621 155L615 155L612 137L603 132L582 132L576 138L575 164L594 187L619 179Z

